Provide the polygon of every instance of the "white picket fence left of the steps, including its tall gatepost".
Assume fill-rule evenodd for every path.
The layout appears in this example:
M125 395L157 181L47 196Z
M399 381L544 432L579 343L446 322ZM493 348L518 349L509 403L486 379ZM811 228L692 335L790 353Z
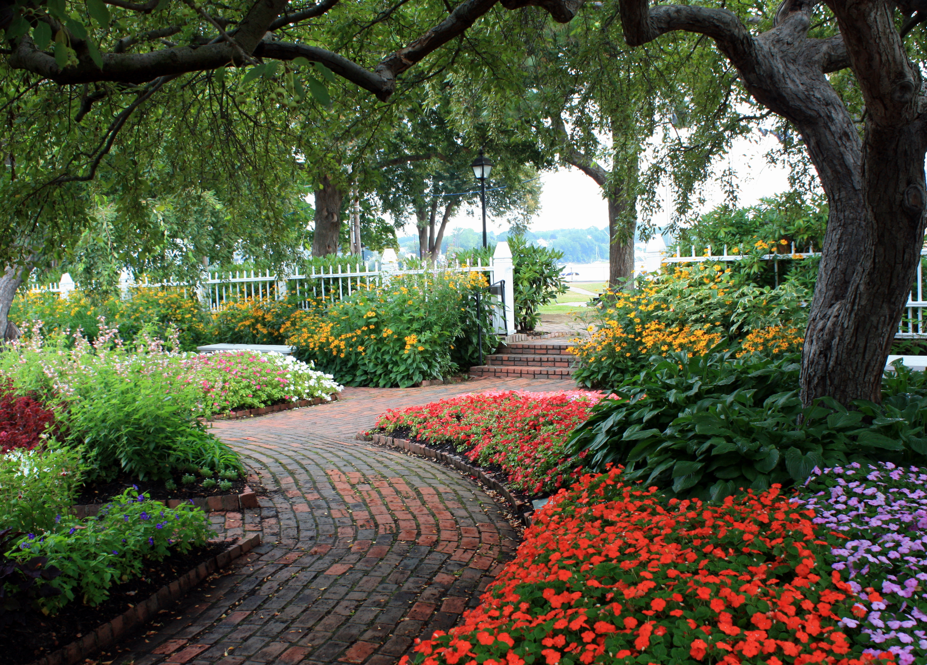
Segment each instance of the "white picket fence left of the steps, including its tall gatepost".
M216 312L226 303L245 298L263 298L277 301L286 300L290 293L296 293L306 300L299 299L300 307L308 307L308 299L330 298L337 299L349 296L359 288L379 286L394 275L431 275L441 272L451 273L485 273L489 284L495 285L495 295L485 305L494 309L493 318L496 332L502 335L514 334L514 275L512 267L512 251L507 242L500 242L489 263L477 260L476 264L466 262L448 266L435 266L418 270L400 270L396 259L396 252L387 249L384 252L383 262L368 263L357 262L344 270L338 265L327 270L312 267L308 274L301 271L277 275L264 270L239 270L210 274L210 279L199 284L185 284L182 282L153 283L147 280L135 282L127 272L120 279L120 288L124 298L130 298L133 288L164 288L175 287L195 289L200 301ZM77 288L70 275L65 273L61 280L54 284L34 285L37 290L50 291L66 298L70 291Z

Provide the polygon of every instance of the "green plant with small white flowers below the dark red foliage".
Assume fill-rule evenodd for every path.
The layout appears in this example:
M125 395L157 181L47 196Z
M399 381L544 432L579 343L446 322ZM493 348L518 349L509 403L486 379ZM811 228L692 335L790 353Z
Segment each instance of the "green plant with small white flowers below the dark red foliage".
M78 450L16 450L0 455L0 530L52 529L81 486Z

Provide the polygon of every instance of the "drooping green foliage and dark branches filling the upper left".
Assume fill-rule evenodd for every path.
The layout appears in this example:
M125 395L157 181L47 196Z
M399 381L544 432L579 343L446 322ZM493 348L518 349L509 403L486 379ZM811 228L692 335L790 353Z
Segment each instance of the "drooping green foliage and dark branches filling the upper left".
M207 194L222 212L185 220L192 236L285 255L298 187L351 185L344 167L400 121L403 94L475 70L464 32L480 21L467 38L485 46L526 5L566 21L581 2L0 0L0 333L19 284L67 261L88 229L150 257L152 238L166 247L159 213ZM332 207L315 206L317 223Z

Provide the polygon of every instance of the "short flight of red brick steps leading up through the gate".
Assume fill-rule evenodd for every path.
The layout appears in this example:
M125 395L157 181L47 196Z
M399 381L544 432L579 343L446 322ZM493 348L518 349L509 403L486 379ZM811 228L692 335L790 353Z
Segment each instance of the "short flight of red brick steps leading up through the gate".
M486 357L487 364L471 367L470 376L569 379L576 361L572 349L565 339L508 342Z

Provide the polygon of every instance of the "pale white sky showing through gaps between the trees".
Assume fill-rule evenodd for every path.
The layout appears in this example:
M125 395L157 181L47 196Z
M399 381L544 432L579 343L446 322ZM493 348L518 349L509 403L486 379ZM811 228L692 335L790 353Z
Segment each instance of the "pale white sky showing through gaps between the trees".
M758 138L758 140L756 140ZM741 178L740 204L751 206L760 198L770 197L789 189L788 172L776 166L771 166L763 155L776 146L776 139L768 135L756 137L754 141L740 139L735 141L729 158L719 162L719 166L727 166L730 159L731 167ZM719 171L720 169L718 169ZM602 198L602 190L592 182L591 178L578 169L560 169L542 176L543 189L540 195L540 212L531 220L532 231L552 231L562 228L589 228L608 226L608 206ZM710 211L723 200L720 189L713 183L705 187L707 199L702 212ZM666 195L664 195L664 198ZM662 201L661 201L662 204ZM448 228L455 226L481 229L481 220L478 209L474 214L467 215L465 210L457 213ZM667 224L667 209L661 205L661 211L654 215L657 226ZM504 220L495 223L487 220L489 231L504 231L508 224Z

